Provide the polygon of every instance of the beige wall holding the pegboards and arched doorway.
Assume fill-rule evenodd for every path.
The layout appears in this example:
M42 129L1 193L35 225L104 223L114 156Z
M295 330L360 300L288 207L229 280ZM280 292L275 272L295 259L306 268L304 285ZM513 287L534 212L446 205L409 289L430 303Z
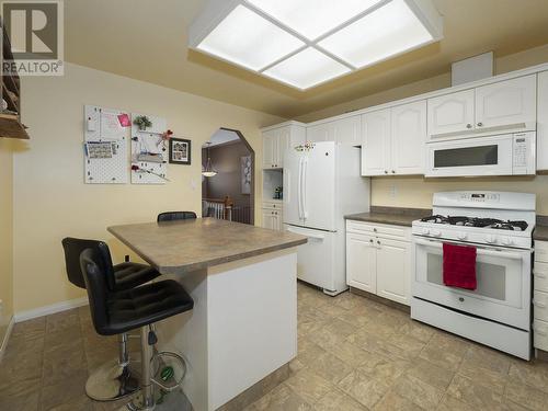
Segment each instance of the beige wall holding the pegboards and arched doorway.
M219 127L241 130L260 164L259 128L282 121L80 66L69 64L65 70L65 77L23 81L23 122L31 140L14 159L15 312L84 295L66 279L64 237L106 239L121 262L127 250L106 232L107 226L151 221L169 209L199 213L201 147ZM176 137L192 140L192 165L169 165L171 183L165 185L83 184L84 104L165 117ZM255 184L260 203L260 170Z

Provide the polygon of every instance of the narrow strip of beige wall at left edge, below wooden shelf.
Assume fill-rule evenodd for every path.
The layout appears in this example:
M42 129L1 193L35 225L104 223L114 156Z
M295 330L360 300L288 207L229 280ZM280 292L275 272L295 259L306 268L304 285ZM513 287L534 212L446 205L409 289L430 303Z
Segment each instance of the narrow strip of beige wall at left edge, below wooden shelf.
M0 138L0 345L13 313L13 142Z

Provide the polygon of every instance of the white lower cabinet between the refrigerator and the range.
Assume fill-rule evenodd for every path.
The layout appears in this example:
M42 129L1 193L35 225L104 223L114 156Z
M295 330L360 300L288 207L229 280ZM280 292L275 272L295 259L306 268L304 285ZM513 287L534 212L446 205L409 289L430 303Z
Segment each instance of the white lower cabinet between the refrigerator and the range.
M351 287L409 306L410 229L347 221L346 283Z

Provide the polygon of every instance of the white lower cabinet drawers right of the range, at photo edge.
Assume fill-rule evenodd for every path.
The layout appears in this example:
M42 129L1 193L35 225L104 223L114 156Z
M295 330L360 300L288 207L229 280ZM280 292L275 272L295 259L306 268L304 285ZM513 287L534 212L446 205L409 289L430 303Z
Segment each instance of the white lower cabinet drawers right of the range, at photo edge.
M548 242L535 242L533 345L548 351Z

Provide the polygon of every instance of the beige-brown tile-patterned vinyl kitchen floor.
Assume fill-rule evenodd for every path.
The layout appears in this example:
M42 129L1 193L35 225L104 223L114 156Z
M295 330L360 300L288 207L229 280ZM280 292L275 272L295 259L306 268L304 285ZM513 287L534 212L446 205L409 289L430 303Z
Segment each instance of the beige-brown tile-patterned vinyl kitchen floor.
M0 364L0 410L116 410L121 402L93 402L84 393L90 370L115 356L116 340L95 334L88 307L18 323ZM246 411L548 410L547 363L505 355L351 293L332 298L302 284L290 369Z

